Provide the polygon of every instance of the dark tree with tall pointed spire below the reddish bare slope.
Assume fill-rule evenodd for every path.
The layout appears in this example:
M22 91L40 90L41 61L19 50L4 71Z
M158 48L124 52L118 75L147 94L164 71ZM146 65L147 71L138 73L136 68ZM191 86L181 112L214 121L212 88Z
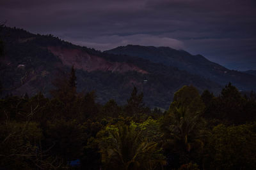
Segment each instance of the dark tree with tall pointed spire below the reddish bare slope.
M76 71L74 66L67 77L60 77L54 81L55 90L51 91L52 105L56 106L56 112L59 118L70 120L75 118L81 122L85 118L92 118L99 112L99 107L95 103L95 92L88 92L87 94L79 94L76 91ZM55 109L54 109L55 110Z

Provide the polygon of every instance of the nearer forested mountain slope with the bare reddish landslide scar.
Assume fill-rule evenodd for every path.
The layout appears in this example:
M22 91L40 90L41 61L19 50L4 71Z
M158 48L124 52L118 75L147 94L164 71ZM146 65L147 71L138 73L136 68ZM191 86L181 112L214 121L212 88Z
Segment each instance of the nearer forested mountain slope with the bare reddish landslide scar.
M132 88L144 94L150 107L168 108L174 92L183 85L194 85L200 92L220 92L218 83L176 67L140 57L102 53L72 45L50 35L31 34L23 29L1 27L4 56L0 57L1 96L33 96L42 92L51 97L52 81L76 68L77 90L95 90L97 101L115 99L125 104Z

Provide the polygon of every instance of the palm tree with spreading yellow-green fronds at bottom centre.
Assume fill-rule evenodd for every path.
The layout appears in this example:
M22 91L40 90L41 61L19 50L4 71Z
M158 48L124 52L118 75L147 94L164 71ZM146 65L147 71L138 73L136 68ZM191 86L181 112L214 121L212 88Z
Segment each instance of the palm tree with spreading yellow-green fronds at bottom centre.
M100 142L105 169L155 169L165 164L158 144L143 139L136 127L119 125L106 131L108 137Z

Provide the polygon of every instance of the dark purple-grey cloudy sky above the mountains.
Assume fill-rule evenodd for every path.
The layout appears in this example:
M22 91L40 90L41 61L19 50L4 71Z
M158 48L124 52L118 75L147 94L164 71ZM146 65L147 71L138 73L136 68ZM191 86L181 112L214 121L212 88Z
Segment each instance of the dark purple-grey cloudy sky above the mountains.
M1 0L0 20L97 50L170 46L256 69L255 0Z

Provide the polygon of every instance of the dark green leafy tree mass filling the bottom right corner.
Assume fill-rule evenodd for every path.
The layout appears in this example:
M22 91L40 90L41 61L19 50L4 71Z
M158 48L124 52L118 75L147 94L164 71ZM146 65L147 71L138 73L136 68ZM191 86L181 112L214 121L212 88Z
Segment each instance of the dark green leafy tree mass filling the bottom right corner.
M256 124L214 127L209 142L212 169L256 168Z

